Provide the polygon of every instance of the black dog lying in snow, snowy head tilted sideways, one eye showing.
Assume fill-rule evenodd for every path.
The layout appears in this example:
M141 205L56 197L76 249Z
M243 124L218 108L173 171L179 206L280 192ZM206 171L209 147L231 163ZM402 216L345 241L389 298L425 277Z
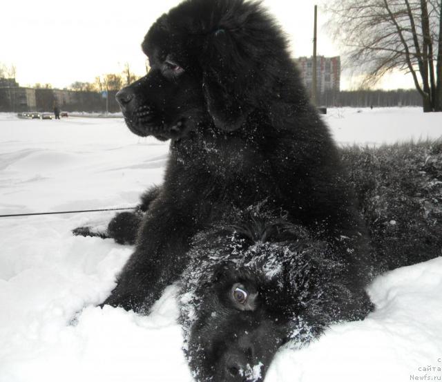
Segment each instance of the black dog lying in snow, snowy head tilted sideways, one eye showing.
M374 248L373 267L359 272L441 256L442 142L342 155ZM329 243L265 205L198 233L189 257L181 322L198 381L262 381L283 343L305 345L331 323L362 319L373 308Z

